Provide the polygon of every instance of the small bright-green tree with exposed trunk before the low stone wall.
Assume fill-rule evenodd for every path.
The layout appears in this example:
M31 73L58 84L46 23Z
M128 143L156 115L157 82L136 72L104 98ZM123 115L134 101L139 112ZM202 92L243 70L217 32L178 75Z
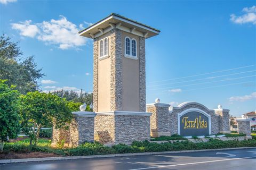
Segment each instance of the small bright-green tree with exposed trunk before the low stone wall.
M39 131L44 126L68 128L72 120L67 101L56 95L44 92L28 92L21 95L21 125L22 130L29 135L30 145L37 145Z

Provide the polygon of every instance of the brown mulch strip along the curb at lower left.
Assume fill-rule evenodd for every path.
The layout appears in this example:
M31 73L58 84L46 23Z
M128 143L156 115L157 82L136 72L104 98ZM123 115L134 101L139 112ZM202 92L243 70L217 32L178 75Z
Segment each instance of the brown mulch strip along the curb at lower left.
M3 153L0 154L0 159L22 159L22 158L45 158L45 157L57 157L60 155L46 152L22 152L22 153Z

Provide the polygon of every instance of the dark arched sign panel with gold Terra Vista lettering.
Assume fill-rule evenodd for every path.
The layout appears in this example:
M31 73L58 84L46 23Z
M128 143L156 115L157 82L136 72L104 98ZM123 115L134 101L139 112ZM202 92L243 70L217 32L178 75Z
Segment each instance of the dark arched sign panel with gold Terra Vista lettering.
M209 116L197 111L179 115L179 129L181 136L209 135Z

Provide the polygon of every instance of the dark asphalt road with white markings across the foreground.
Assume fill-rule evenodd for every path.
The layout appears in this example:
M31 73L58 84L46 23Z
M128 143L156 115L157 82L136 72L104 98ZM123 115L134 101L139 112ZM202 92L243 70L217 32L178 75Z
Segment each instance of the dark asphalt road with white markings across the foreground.
M256 148L0 164L0 169L256 169Z

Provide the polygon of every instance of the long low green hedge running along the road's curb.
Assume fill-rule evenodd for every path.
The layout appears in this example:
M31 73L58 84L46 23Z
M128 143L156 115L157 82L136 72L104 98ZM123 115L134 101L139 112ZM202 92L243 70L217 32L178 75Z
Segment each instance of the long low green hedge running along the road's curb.
M256 147L256 140L244 141L221 141L210 139L209 142L193 143L190 141L150 143L149 141L134 141L131 146L118 144L112 147L106 147L98 142L84 143L75 148L51 148L50 142L38 143L37 147L29 146L28 142L6 143L4 153L14 152L52 152L62 156L82 156L82 155L106 155L106 154L124 154L135 152L155 152L155 151L176 151L191 149L215 149L215 148L236 148L236 147Z

